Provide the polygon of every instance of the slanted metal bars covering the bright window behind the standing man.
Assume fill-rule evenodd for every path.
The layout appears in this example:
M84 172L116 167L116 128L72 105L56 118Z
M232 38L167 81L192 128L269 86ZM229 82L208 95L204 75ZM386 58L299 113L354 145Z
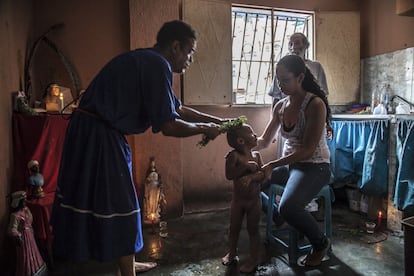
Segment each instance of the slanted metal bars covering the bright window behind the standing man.
M312 26L311 13L233 6L233 103L270 104L274 64L288 53L293 33L304 33L312 45ZM312 59L312 49L308 54Z

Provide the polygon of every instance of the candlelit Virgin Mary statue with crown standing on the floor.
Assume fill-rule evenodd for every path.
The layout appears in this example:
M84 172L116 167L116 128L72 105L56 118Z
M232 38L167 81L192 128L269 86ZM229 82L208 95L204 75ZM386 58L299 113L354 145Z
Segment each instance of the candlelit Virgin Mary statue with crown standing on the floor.
M160 220L161 201L164 201L164 195L161 189L161 176L158 174L154 158L151 158L150 161L144 190L144 223L158 223Z

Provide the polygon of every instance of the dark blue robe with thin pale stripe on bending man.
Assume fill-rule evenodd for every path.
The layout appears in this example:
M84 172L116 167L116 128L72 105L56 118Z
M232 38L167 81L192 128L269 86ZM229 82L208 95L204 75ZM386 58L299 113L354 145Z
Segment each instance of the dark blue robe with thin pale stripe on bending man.
M125 135L178 118L168 61L153 49L111 60L83 94L65 137L52 211L54 254L110 261L143 247Z

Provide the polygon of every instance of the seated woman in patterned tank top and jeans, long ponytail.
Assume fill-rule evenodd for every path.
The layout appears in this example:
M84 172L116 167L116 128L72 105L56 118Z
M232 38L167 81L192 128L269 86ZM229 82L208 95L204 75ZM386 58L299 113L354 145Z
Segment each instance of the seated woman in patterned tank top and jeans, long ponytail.
M271 177L267 183L285 186L279 204L280 215L312 244L302 264L317 266L330 241L305 206L330 179L330 153L325 138L331 112L325 93L301 57L283 57L277 64L276 75L287 97L276 103L256 149L267 147L280 127L286 139L283 155L263 168L267 179Z

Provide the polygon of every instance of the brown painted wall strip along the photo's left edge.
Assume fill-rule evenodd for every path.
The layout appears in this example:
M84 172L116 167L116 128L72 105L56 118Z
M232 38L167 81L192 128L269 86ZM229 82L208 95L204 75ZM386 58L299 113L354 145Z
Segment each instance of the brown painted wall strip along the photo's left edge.
M13 248L6 237L9 206L6 195L10 192L13 164L12 97L19 90L23 77L26 43L32 27L32 1L0 0L0 274L7 268Z

